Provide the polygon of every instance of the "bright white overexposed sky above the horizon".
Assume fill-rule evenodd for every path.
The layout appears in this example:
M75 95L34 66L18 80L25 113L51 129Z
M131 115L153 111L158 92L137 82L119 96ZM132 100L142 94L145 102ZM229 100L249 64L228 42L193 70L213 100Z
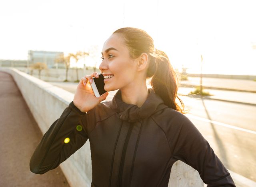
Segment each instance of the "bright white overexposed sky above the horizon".
M0 59L98 48L86 58L98 66L105 40L130 26L148 32L174 68L200 73L202 55L203 73L256 75L255 20L255 0L6 0Z

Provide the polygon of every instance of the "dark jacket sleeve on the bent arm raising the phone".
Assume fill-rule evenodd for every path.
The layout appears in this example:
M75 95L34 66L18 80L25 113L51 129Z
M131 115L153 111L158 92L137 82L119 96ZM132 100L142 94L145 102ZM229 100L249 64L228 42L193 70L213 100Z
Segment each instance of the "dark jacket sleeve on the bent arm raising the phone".
M43 174L58 167L87 139L86 113L80 111L72 101L37 145L30 159L30 171Z

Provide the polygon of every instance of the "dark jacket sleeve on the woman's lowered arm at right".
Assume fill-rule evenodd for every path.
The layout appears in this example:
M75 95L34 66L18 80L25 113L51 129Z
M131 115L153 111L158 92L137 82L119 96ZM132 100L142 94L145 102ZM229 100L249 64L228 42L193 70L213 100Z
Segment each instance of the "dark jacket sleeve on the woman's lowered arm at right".
M196 169L208 187L235 187L230 173L215 155L208 141L188 117L183 117L170 142L170 147L174 147L173 157Z

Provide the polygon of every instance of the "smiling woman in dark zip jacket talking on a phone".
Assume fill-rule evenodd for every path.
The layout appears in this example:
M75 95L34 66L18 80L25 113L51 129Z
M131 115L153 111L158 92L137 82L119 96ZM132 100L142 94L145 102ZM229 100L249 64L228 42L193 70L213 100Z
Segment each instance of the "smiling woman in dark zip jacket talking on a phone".
M116 30L104 43L99 68L104 89L118 92L112 101L101 103L108 92L97 98L90 87L97 73L81 78L74 100L32 155L32 172L56 168L89 139L93 187L167 187L177 160L198 170L210 187L235 186L208 142L183 114L182 101L183 109L176 103L176 74L145 31ZM148 89L146 80L151 77Z

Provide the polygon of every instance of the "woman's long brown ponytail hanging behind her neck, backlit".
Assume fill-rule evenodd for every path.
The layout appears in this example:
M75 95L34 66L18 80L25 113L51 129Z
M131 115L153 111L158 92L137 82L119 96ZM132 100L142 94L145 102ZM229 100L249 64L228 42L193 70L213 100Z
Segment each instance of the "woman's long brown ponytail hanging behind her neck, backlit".
M154 72L150 82L154 92L162 98L165 105L184 113L184 103L177 95L178 77L166 53L155 49L150 65L147 76L152 76L152 72ZM155 71L152 69L155 69ZM176 97L179 99L182 108L176 103Z

